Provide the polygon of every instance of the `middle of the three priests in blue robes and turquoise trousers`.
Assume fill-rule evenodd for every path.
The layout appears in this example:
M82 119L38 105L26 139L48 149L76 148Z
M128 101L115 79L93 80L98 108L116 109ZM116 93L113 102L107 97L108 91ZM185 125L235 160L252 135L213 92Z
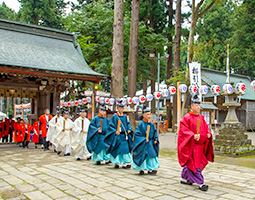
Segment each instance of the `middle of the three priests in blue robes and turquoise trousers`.
M115 168L131 168L131 150L133 140L133 130L124 112L124 105L120 101L117 104L118 112L110 120L105 143L108 152L111 154L110 161L115 164Z

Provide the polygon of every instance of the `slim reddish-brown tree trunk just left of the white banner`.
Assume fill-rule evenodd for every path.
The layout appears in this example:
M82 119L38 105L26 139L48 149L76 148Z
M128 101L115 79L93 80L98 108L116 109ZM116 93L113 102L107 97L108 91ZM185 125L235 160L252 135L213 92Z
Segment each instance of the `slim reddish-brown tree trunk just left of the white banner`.
M176 3L176 23L175 23L175 40L174 40L174 71L178 71L181 68L181 54L180 54L180 48L181 48L181 0L177 0ZM177 76L177 74L175 74ZM177 123L177 98L176 95L174 96L174 102L173 102L173 132L176 131L175 124Z

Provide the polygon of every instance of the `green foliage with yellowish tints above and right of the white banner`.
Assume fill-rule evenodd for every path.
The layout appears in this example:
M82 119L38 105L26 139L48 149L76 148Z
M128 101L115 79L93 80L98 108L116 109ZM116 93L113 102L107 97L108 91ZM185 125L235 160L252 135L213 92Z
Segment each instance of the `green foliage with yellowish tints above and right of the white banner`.
M225 70L226 47L233 34L230 26L236 5L232 1L213 6L198 20L199 35L194 51L195 59L203 67Z

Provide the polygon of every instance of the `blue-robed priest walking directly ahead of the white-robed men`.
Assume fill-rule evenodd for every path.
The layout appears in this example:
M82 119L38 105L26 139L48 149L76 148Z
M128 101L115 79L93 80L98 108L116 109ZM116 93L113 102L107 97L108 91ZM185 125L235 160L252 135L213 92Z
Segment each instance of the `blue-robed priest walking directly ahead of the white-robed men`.
M98 115L90 122L86 142L88 151L92 153L92 160L97 165L100 165L102 161L105 161L105 164L110 163L110 154L106 153L107 147L104 142L108 125L106 108L101 106Z

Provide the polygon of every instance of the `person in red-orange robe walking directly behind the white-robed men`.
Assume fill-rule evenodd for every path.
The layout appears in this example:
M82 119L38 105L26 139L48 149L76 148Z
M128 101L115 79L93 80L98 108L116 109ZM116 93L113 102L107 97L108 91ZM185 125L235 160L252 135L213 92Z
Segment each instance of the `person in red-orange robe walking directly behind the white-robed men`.
M48 108L46 108L44 114L39 117L39 130L42 132L44 151L49 150L49 141L46 141L46 137L51 119L52 115L50 115L50 110Z

